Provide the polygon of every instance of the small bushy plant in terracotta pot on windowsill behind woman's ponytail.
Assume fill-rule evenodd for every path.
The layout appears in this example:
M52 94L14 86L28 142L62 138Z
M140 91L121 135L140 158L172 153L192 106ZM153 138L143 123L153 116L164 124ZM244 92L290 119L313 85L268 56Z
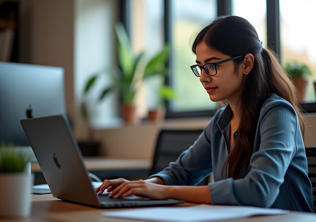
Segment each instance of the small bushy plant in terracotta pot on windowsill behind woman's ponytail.
M284 70L297 88L299 101L303 103L306 95L307 79L308 76L312 75L311 70L306 64L298 63L296 61L286 63Z

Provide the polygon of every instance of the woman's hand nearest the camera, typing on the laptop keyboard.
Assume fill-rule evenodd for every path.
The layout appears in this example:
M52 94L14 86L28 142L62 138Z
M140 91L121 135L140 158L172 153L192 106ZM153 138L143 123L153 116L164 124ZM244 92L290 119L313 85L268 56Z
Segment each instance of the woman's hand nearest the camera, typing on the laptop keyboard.
M120 198L129 195L149 197L156 200L169 199L169 186L146 182L144 180L125 181L116 187L109 197Z

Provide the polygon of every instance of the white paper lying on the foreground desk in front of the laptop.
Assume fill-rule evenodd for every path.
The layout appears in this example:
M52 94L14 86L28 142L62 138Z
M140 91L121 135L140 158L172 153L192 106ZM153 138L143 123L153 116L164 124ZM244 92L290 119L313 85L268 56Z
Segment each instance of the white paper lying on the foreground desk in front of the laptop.
M103 216L150 221L197 222L240 219L255 215L276 215L287 212L286 210L271 208L201 204L193 207L152 207L104 212Z

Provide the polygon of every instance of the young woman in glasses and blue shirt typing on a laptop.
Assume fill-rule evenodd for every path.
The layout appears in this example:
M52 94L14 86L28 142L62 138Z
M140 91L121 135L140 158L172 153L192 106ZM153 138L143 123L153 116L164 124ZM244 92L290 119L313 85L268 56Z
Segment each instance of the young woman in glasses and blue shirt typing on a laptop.
M226 108L159 173L104 180L96 192L313 212L296 90L254 27L237 16L218 17L197 35L192 51L194 75L212 101L227 100ZM211 172L214 183L194 186Z

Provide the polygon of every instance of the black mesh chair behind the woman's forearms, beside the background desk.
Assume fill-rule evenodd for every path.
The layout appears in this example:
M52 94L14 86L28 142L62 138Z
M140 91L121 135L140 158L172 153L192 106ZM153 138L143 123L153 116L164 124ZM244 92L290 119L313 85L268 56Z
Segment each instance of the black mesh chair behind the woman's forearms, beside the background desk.
M203 129L162 129L157 138L150 175L161 171L170 162L175 161L202 132ZM206 177L198 185L207 185L208 181L209 177Z

